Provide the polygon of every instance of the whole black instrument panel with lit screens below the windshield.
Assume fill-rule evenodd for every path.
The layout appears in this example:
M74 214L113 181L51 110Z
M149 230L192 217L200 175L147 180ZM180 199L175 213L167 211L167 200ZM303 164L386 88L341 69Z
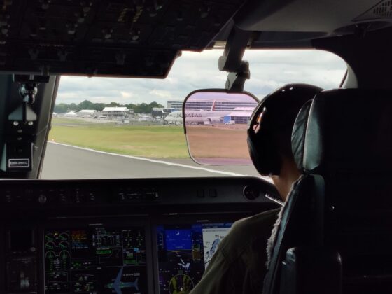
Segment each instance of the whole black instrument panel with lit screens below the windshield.
M271 184L226 181L2 181L0 292L189 293L232 223L277 207Z

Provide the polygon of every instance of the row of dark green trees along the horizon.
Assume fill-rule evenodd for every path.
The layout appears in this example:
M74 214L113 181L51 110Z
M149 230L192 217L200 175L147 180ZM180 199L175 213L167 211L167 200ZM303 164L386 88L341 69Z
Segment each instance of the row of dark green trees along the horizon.
M111 102L109 104L104 103L93 103L89 100L85 100L80 102L79 104L71 103L65 104L60 103L55 105L55 113L66 113L68 111L81 111L82 109L91 109L96 111L102 111L105 107L127 107L127 109L133 109L134 113L151 113L153 107L165 107L158 102L151 102L150 104L141 103L141 104L119 104L117 102Z

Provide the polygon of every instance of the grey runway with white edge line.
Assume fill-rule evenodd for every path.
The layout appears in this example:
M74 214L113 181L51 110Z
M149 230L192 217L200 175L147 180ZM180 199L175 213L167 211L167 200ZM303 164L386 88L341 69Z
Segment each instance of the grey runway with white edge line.
M41 179L113 179L192 176L259 176L253 166L213 167L191 159L116 155L48 142Z

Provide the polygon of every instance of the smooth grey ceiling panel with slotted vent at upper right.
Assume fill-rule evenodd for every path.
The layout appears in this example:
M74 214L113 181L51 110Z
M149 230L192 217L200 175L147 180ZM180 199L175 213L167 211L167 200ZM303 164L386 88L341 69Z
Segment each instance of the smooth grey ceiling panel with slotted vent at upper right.
M253 48L295 47L315 38L390 27L392 1L249 0L235 16L235 23L243 30L261 32Z

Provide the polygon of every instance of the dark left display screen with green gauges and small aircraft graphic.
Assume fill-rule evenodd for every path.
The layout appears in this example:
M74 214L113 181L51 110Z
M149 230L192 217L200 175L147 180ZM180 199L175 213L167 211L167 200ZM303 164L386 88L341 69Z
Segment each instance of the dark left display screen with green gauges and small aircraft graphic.
M45 230L45 293L147 293L143 227Z

